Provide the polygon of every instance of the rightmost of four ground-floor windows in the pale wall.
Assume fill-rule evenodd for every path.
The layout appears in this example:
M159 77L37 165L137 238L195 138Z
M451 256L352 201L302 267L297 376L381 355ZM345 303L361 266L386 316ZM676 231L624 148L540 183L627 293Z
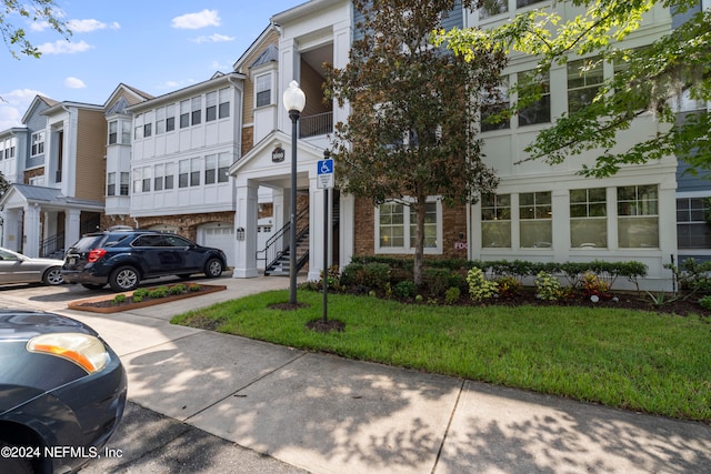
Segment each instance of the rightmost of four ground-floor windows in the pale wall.
M618 245L659 248L659 191L655 185L618 188Z

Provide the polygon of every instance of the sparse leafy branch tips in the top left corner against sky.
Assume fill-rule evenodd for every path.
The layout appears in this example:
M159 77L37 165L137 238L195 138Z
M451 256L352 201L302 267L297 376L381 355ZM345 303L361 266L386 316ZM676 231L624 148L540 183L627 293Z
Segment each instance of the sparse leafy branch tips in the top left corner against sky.
M4 8L0 10L0 36L13 58L20 59L21 54L39 58L41 52L27 39L24 29L17 27L12 16L29 19L30 21L44 21L56 32L69 39L71 31L60 20L60 13L54 0L3 0Z

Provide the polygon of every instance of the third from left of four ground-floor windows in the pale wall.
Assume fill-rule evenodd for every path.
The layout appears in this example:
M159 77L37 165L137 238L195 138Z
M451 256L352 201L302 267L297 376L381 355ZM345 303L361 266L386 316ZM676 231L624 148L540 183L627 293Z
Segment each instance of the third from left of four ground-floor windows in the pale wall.
M608 199L604 188L570 191L570 246L608 246Z

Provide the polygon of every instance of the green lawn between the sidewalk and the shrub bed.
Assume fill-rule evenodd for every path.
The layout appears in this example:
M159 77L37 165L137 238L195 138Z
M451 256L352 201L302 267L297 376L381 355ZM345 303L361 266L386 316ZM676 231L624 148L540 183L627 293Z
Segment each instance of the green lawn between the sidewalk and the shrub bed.
M432 306L330 294L344 332L306 325L322 294L296 311L272 291L173 317L183 325L507 385L663 416L711 422L711 321L588 307Z

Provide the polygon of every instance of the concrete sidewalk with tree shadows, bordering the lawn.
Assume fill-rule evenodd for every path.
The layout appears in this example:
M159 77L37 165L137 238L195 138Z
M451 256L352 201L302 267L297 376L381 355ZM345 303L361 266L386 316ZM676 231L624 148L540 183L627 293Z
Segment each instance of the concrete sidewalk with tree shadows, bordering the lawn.
M210 281L204 281L210 283ZM174 326L178 313L287 288L228 290L132 312L44 310L87 322L121 356L129 400L313 473L699 473L700 423L349 361Z

